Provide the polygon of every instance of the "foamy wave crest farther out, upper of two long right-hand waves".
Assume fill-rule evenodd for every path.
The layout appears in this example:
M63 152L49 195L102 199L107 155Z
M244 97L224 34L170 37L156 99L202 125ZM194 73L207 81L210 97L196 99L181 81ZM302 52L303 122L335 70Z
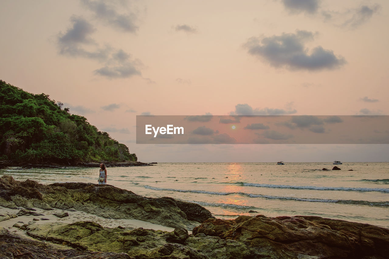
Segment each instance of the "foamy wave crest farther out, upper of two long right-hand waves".
M254 184L249 182L235 182L233 184L240 186L282 188L282 189L301 189L301 190L319 190L319 191L357 191L357 192L383 192L389 193L388 188L363 188L363 187L328 187L328 186L296 186L283 184Z

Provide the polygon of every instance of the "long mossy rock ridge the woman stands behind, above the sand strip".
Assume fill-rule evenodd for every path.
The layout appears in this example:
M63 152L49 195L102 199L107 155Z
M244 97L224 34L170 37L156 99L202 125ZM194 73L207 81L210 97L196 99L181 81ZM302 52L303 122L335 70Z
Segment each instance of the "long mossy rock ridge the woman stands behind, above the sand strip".
M18 191L23 188L25 193ZM46 210L72 208L109 219L139 219L173 228L192 229L199 222L213 218L209 210L195 203L169 197L147 198L114 186L91 183L68 182L46 186L31 180L16 181L4 175L0 177L0 197L6 197L20 207ZM21 210L18 215L43 215L34 213Z

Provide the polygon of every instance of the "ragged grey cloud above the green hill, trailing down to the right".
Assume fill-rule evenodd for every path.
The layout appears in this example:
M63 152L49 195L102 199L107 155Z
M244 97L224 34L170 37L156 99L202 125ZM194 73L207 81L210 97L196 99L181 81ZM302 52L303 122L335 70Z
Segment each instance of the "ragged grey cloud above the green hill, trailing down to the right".
M109 45L101 47L90 36L95 31L93 26L81 17L71 17L71 28L65 33L58 33L59 53L73 58L86 58L103 63L103 67L94 70L95 75L110 79L127 78L141 75L141 62L132 60L131 55L123 49L115 49Z

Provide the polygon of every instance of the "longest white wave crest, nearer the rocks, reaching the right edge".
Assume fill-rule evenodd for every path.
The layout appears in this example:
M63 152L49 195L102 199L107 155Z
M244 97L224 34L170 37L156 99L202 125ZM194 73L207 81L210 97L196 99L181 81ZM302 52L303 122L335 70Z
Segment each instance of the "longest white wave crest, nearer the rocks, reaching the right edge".
M273 195L242 193L242 192L213 192L213 191L200 191L200 190L181 190L181 189L153 187L148 185L145 185L144 187L156 191L175 191L181 193L204 193L204 194L213 194L213 195L239 194L250 198L265 198L270 200L293 200L293 201L308 201L308 202L340 203L340 204L350 204L350 205L368 205L373 207L389 207L389 201L332 200L332 199L318 199L318 198L273 196ZM211 206L211 205L207 205L207 206Z

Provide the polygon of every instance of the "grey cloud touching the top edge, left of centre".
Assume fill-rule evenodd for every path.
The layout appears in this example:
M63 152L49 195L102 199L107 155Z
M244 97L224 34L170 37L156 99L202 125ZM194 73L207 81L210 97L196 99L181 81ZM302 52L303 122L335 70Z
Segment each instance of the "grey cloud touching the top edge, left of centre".
M112 26L113 28L119 29L123 32L135 33L138 30L138 26L135 24L138 17L133 12L128 12L126 14L119 14L117 11L126 9L125 5L116 3L124 3L123 1L91 1L91 0L81 0L81 3L94 12L98 20L104 21L106 24Z

